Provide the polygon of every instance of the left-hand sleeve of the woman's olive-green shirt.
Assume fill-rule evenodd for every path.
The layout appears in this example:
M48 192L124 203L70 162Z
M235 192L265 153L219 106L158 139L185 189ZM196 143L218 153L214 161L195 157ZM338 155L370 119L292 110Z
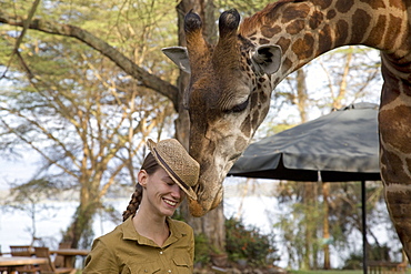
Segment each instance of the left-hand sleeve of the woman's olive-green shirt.
M96 239L86 258L83 274L119 274L116 255L103 241Z

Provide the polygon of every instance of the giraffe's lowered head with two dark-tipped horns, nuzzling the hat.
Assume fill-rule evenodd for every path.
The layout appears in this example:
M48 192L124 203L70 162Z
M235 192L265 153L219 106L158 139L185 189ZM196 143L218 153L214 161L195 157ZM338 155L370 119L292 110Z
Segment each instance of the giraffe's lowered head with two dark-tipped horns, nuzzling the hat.
M202 216L222 200L222 181L249 145L270 104L271 74L280 67L278 45L257 45L238 32L240 14L225 11L219 19L219 41L209 44L202 22L189 12L184 19L187 48L163 49L191 73L184 94L190 114L190 154L200 163L198 200L190 212Z

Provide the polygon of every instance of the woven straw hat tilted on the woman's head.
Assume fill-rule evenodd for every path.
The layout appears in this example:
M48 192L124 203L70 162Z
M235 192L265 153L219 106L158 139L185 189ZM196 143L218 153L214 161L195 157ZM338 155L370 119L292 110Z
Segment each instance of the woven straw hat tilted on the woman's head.
M158 143L149 139L147 144L170 177L190 199L197 200L197 194L191 187L199 180L200 164L189 155L181 143L176 139L167 139Z

